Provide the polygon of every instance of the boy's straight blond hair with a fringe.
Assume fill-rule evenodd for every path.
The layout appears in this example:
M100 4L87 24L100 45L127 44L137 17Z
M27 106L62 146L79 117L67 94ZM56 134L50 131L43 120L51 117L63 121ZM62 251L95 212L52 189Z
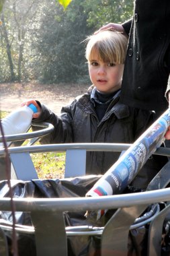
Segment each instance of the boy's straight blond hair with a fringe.
M87 39L85 57L92 61L97 54L104 63L124 64L128 38L121 32L101 30Z

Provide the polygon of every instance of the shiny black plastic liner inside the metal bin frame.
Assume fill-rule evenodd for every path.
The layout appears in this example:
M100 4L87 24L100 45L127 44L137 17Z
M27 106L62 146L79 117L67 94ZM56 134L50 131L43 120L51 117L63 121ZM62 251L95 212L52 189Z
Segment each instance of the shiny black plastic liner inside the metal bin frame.
M13 188L13 197L38 197L38 198L52 198L52 197L84 197L87 191L93 187L101 176L86 176L77 177L73 179L48 179L48 180L32 180L32 181L17 181L11 180L11 187ZM126 191L127 193L127 191ZM7 181L0 182L0 196L9 197L9 188ZM141 220L146 218L147 214L150 216L151 207L148 208L141 216ZM113 210L114 212L115 210ZM110 210L110 213L112 210ZM109 212L108 212L109 213ZM65 212L66 226L83 226L87 225L85 212ZM106 223L112 214L105 214L101 223ZM32 226L32 220L29 213L17 212L16 222L21 225ZM109 216L109 217L108 217ZM0 212L1 220L12 222L11 212ZM138 218L140 222L140 218ZM96 224L96 226L99 226ZM9 256L11 247L11 231L5 230L7 241L9 245ZM167 227L167 235L169 234L169 226ZM148 226L144 225L135 230L130 230L128 237L128 256L143 256L146 255L147 247L147 233ZM99 256L101 236L68 236L68 255L69 256ZM19 256L32 255L36 256L36 246L34 241L34 234L17 233L17 243L19 249ZM168 242L167 242L168 245ZM167 251L167 247L165 250ZM168 254L165 254L168 255Z

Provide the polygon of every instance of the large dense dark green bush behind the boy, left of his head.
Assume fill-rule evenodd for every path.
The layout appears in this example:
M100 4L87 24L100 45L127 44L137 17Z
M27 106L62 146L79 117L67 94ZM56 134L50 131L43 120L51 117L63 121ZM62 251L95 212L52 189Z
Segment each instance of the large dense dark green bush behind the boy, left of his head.
M87 77L85 45L81 43L93 28L87 26L87 14L72 1L67 11L48 3L42 15L42 25L35 35L34 47L38 79L43 82L77 82Z

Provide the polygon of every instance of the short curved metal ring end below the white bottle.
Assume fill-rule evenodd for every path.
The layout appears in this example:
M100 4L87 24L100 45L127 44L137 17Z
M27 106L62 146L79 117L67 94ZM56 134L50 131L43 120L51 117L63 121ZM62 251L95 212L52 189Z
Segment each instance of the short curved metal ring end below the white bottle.
M51 123L32 123L32 126L41 127L39 131L32 131L30 133L19 133L15 135L5 135L6 141L19 141L31 139L33 137L42 137L51 133L54 129L54 126ZM2 141L2 136L0 136L0 142Z

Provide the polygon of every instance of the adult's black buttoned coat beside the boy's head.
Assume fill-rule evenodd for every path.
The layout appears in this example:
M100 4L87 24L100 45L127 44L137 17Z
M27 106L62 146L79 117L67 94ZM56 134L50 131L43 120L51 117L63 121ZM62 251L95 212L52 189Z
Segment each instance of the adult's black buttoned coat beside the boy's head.
M132 26L130 22L122 25L130 37L120 101L163 111L168 106L165 92L170 71L170 1L136 0Z

